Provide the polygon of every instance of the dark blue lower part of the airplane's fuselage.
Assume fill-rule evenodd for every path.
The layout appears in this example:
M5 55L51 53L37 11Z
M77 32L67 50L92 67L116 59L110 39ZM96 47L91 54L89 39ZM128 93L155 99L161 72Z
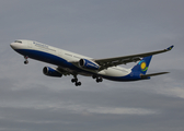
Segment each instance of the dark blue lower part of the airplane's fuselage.
M76 66L73 66L72 63L68 62L67 60L48 53L48 52L44 52L44 51L38 51L38 50L32 50L32 49L16 49L16 52L23 55L23 56L27 56L28 58L35 59L35 60L39 60L43 62L47 62L47 63L51 63L58 67L62 67L62 68L69 68L70 70L77 71L77 72L84 72L88 74L93 74L92 72L89 71L84 71ZM131 72L128 75L125 76L106 76L106 75L100 75L104 79L107 80L112 80L112 81L137 81L137 80L142 80L140 79L140 73L136 73L136 72Z

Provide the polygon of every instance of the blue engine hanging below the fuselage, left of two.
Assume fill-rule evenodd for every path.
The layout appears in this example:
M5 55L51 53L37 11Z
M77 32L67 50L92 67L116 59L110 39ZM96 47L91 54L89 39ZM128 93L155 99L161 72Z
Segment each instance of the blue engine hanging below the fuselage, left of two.
M62 76L62 74L59 71L57 71L57 69L50 67L45 67L43 69L43 73L47 76L57 76L57 78Z

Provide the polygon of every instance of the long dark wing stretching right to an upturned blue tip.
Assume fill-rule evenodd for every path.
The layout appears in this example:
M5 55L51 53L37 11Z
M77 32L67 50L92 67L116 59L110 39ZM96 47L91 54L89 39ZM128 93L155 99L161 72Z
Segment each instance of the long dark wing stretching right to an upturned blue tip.
M116 58L106 58L106 59L94 59L93 61L100 64L100 71L103 69L107 69L110 67L115 67L118 64L126 64L129 62L136 62L141 60L143 57L152 56L152 55L158 55L162 53L165 51L169 51L173 48L174 46L171 46L166 49L163 50L158 50L158 51L151 51L151 52L145 52L145 53L139 53L139 55L131 55L131 56L124 56L124 57L116 57Z

